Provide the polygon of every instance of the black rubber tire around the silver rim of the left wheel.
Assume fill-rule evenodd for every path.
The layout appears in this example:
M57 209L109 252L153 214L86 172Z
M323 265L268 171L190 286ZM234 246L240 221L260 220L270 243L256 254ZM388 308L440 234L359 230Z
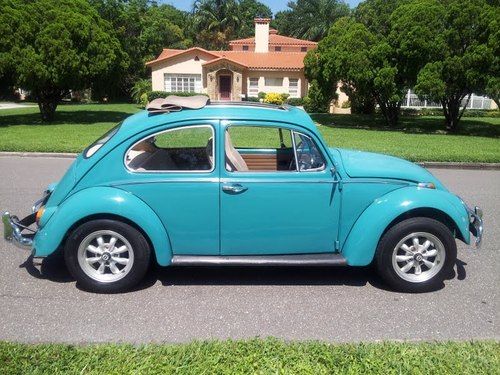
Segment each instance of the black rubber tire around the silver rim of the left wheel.
M80 245L82 245L82 248L84 248L84 244L82 244L84 241L86 241L89 237L92 238L94 233L99 233L102 231L106 231L103 236L109 235L109 238L111 238L111 234L108 234L108 232L114 232L119 236L122 236L126 241L128 241L128 244L131 247L131 252L133 253L133 262L131 262L132 264L126 270L126 272L123 270L127 266L123 266L120 271L123 271L121 273L124 274L124 276L117 276L122 278L116 281L99 281L92 278L91 276L89 276L89 273L92 274L92 270L88 271L87 267L87 271L84 271L82 265L79 262L78 252ZM118 239L117 241L117 245L120 243L125 244L125 242L120 242L120 239ZM128 246L126 247L128 248ZM126 254L129 257L131 256L128 250L126 251ZM120 255L118 255L118 257L120 257ZM117 220L99 219L88 221L77 227L69 234L64 247L64 259L66 261L66 266L68 267L69 272L76 279L78 285L83 289L96 293L119 293L130 290L142 280L150 265L151 250L146 238L144 238L142 233L131 225ZM111 257L109 259L112 260L115 258ZM108 264L110 262L111 261L108 261ZM96 264L100 265L101 263ZM106 270L106 267L108 267L109 270ZM118 264L118 267L122 267L122 265ZM104 270L105 273L112 274L109 265L104 266ZM114 270L116 271L116 268ZM99 277L99 275L97 276ZM110 275L110 277L114 276Z

